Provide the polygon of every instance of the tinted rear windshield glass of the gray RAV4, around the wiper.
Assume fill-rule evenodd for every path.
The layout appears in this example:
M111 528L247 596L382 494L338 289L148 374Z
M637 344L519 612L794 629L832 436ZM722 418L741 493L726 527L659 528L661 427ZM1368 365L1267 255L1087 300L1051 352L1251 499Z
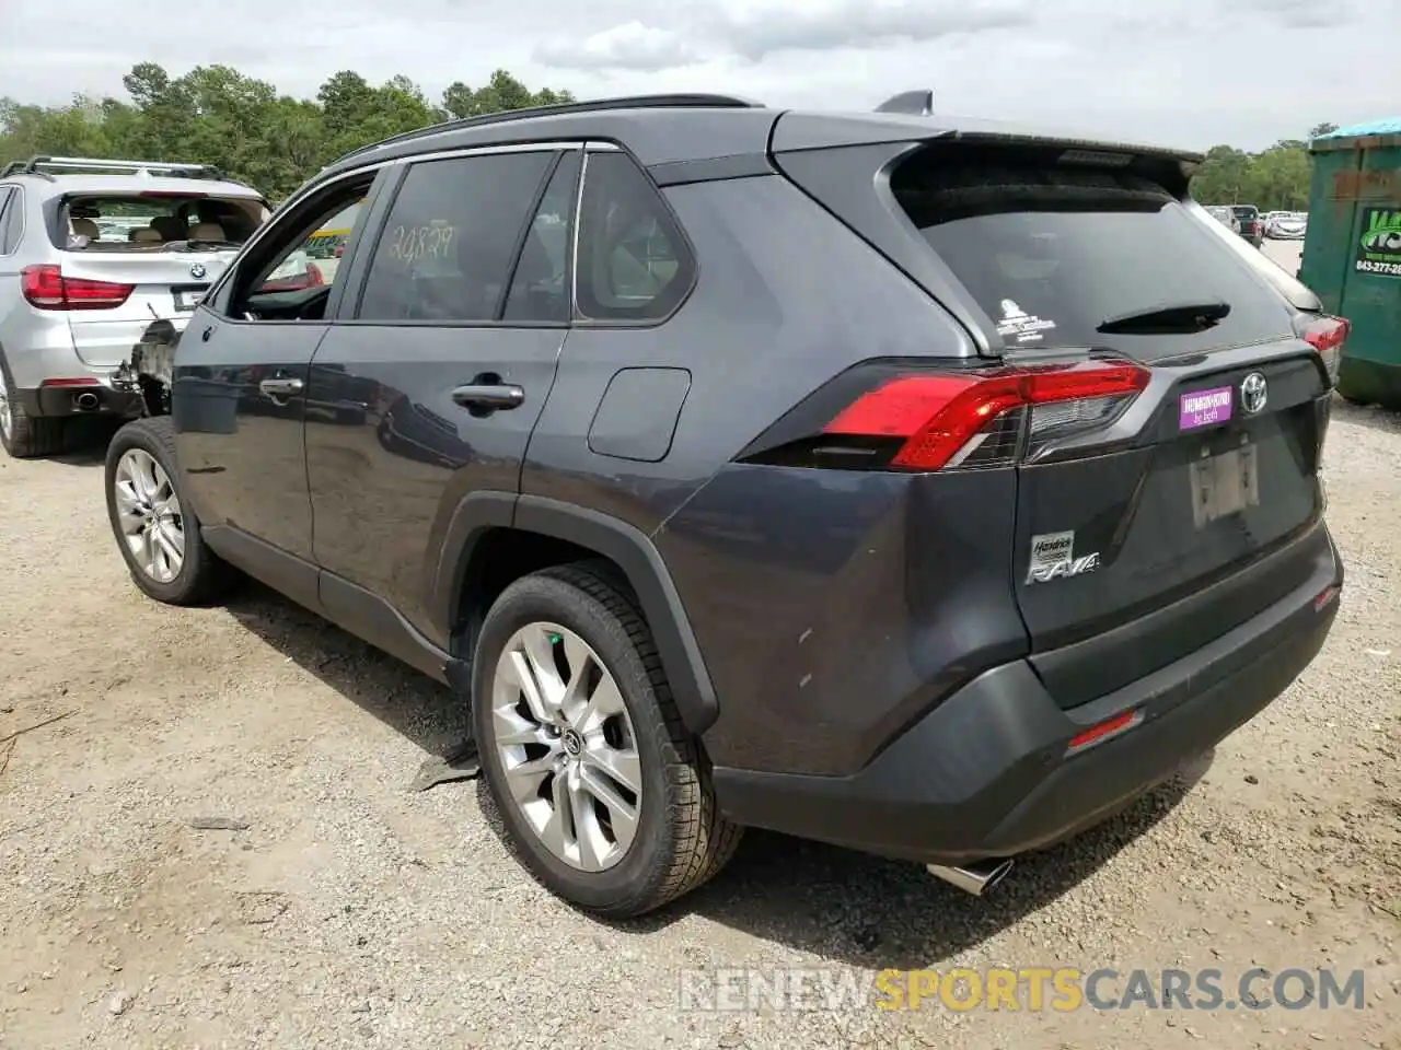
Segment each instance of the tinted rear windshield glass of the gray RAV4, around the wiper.
M1223 244L1229 231L1140 175L926 150L891 189L1012 350L1105 347L1152 360L1292 335L1279 297ZM1181 321L1098 330L1217 302L1230 309L1205 330L1184 333Z

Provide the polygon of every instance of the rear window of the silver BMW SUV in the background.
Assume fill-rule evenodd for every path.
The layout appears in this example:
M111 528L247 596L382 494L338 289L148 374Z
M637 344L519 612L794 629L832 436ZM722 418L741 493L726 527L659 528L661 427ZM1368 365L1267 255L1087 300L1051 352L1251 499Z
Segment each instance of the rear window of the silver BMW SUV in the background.
M172 245L233 249L268 214L262 202L247 197L70 195L50 234L56 248L77 252L160 252Z

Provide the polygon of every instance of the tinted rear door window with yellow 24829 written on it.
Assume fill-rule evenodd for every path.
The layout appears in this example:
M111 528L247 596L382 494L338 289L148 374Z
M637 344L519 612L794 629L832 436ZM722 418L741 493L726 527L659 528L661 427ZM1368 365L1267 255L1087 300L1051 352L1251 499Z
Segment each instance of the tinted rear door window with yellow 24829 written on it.
M409 168L385 220L359 316L493 321L552 153L502 153Z

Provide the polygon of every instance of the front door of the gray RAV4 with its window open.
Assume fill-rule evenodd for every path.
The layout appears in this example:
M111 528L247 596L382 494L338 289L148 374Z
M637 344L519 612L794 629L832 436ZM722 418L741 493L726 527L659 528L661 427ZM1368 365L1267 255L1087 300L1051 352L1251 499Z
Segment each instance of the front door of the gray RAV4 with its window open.
M333 183L275 220L191 316L175 354L171 414L202 525L235 531L235 542L251 538L255 550L272 547L308 570L307 381L339 281L305 245L328 216L361 202L373 179ZM314 601L314 574L298 578ZM286 580L268 582L308 598Z

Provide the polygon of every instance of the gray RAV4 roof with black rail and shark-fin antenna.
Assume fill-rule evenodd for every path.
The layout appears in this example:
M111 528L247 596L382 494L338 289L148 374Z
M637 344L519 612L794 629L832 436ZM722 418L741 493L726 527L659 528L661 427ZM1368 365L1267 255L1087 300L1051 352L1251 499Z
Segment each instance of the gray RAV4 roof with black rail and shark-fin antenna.
M906 92L887 106L911 106L929 92ZM743 157L769 151L922 141L934 137L1047 141L1177 157L1202 155L1139 143L1122 143L996 120L934 113L926 105L873 112L797 111L766 106L733 95L639 95L593 102L490 113L448 120L387 139L345 154L324 168L321 178L370 164L439 151L510 146L517 143L604 139L625 143L646 167Z

